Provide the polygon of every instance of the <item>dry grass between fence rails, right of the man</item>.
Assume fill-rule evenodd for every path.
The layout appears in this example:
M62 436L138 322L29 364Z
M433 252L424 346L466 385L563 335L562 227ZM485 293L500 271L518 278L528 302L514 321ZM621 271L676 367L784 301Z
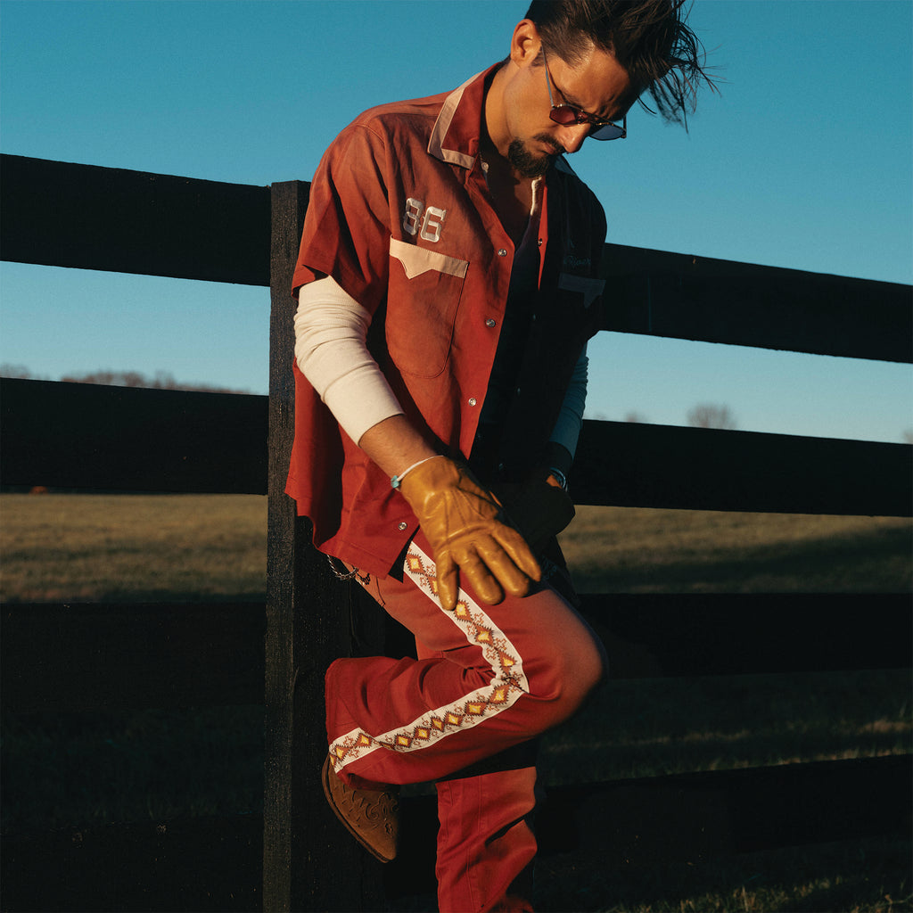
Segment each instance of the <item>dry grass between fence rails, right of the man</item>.
M913 523L577 509L561 548L581 593L909 593Z

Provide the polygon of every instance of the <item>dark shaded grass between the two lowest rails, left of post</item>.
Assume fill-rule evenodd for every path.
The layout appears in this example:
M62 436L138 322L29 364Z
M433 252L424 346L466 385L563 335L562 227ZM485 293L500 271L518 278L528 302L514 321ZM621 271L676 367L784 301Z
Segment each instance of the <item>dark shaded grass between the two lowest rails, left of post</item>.
M3 833L263 809L263 708L5 714Z

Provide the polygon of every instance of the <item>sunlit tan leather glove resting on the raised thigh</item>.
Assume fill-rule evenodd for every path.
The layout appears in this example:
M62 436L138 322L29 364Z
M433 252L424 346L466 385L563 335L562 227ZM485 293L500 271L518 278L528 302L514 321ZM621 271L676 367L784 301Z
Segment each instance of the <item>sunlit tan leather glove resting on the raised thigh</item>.
M488 604L499 603L505 590L525 596L530 581L540 580L529 545L467 467L436 456L410 470L399 490L435 553L437 594L447 611L456 607L460 572Z

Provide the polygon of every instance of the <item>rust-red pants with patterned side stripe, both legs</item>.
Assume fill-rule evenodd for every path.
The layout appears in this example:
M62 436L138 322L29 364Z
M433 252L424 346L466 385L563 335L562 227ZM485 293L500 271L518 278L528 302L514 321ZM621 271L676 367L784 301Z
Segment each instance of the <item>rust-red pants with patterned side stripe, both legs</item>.
M327 670L334 770L355 786L436 782L442 913L531 910L510 886L536 852L535 768L461 771L568 719L603 677L602 645L545 584L493 606L463 590L445 612L421 532L402 580L362 585L415 635L417 659L338 659Z

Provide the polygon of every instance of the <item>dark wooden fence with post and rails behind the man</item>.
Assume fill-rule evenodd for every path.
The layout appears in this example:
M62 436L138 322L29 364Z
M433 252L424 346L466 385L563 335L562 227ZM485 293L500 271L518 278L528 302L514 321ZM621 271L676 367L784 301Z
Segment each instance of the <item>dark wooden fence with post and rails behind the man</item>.
M262 703L262 817L10 835L3 909L395 908L396 897L432 883L431 800L404 803L413 839L382 868L342 834L317 778L323 670L335 656L393 648L394 635L373 604L331 579L283 494L289 279L308 184L218 184L9 155L0 182L5 260L269 286L272 297L268 397L0 386L5 485L269 496L265 612L249 603L2 606L5 713ZM606 330L913 360L908 286L618 245L605 247L603 272L614 289ZM909 516L910 451L587 421L575 494L597 505ZM908 667L908 610L903 594L584 603L623 659L625 644L647 657L643 666L625 659L626 677ZM908 826L910 780L904 756L556 789L542 852L558 848L557 832L564 849L597 841L606 865L895 833ZM603 826L594 829L595 818Z

